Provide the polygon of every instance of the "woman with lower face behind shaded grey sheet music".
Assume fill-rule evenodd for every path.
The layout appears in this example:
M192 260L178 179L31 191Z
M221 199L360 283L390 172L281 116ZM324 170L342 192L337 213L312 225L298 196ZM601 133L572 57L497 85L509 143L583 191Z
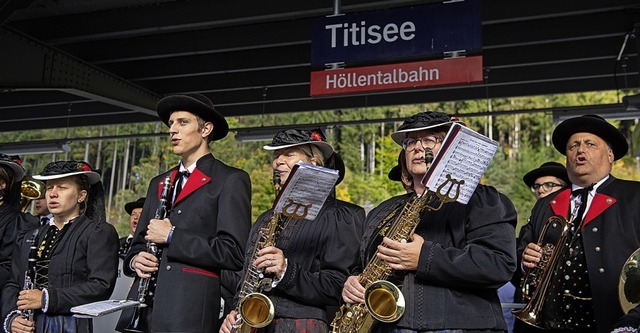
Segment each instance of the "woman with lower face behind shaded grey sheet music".
M281 131L264 149L273 151L271 167L281 184L300 161L336 167L335 160L329 159L332 165L325 164L333 148L320 130ZM252 249L258 231L272 215L272 210L264 212L253 225L245 267L253 260ZM273 274L275 279L272 289L265 291L275 306L275 318L268 326L258 329L259 332L328 331L326 307L339 303L340 287L358 251L360 223L357 218L352 208L330 197L313 221L288 220L279 231L275 246L257 252L253 264ZM221 332L232 331L236 315L234 310L226 317Z

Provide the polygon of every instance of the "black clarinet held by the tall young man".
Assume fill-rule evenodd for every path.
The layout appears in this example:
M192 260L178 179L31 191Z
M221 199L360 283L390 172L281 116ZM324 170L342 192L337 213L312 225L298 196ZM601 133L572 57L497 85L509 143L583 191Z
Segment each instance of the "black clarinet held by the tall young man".
M156 209L156 215L154 218L156 220L161 220L167 217L169 209L169 195L171 193L171 174L167 175L164 179L164 184L162 185L162 192L160 194L160 203L158 204L158 208ZM147 241L147 253L153 254L156 258L158 258L158 262L160 262L160 249L158 248L158 244L154 242ZM157 278L158 272L154 272L148 278L141 278L140 283L138 284L138 302L140 305L135 308L133 313L133 317L129 322L129 326L124 329L125 332L130 333L143 333L147 332L147 324L146 324L146 311L143 311L148 305L153 301L153 296L155 293L155 282Z

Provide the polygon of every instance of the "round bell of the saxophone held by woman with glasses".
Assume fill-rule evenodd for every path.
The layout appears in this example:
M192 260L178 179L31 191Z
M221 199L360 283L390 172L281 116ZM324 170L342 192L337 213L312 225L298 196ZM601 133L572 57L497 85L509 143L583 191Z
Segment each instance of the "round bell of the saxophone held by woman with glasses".
M392 323L404 314L404 295L400 288L389 281L371 283L364 292L364 299L371 316L383 323Z

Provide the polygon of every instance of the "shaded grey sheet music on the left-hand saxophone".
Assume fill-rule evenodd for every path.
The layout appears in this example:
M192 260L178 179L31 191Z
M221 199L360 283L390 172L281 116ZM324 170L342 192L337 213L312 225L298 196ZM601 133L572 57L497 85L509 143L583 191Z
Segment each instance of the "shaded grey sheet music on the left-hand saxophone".
M313 220L337 180L337 170L298 162L280 192L274 210L292 218Z

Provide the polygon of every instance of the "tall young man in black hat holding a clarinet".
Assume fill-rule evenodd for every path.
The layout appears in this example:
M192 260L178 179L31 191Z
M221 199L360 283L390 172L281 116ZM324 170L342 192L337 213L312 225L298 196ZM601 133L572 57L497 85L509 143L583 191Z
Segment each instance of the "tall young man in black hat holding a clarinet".
M220 271L240 270L244 262L251 228L249 175L210 153L209 143L224 138L229 126L207 97L168 96L156 109L180 164L151 180L124 271L156 277L153 304L145 310L149 331L213 332ZM167 176L173 185L170 213L155 219ZM147 253L147 242L158 244L159 258ZM137 288L132 286L130 298L137 298Z

